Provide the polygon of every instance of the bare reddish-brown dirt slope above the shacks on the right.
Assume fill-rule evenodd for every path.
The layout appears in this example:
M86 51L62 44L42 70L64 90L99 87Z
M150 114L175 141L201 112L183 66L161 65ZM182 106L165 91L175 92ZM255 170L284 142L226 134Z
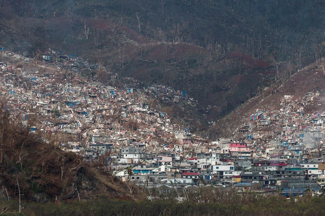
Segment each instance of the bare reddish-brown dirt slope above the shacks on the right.
M222 118L217 122L215 129L220 135L231 136L232 132L247 121L248 115L256 109L263 110L277 110L280 108L280 100L284 95L293 95L293 100L298 100L305 93L317 90L319 92L325 91L325 62L320 61L310 65L307 70L303 69L292 75L292 77L283 83L279 88L276 88L271 94L271 88L261 91L261 96L247 101L242 107L234 110L232 113ZM322 101L318 101L317 105L309 107L309 111L317 111L325 108ZM321 105L318 105L321 104ZM229 130L230 129L230 130Z

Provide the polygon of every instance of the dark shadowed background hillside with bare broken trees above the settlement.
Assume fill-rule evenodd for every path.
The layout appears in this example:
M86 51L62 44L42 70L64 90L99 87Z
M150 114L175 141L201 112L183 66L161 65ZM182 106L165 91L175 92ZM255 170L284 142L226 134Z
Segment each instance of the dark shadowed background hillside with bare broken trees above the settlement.
M25 56L51 48L143 85L187 91L200 107L182 107L185 113L175 107L171 114L199 119L191 127L201 131L325 52L323 1L4 4L0 45Z

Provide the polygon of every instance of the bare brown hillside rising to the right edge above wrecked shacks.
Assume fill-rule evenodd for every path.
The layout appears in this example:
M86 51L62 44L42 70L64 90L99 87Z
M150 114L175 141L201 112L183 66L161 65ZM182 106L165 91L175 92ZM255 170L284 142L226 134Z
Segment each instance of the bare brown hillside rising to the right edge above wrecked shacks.
M276 114L276 111L280 110L284 105L281 102L285 95L292 95L290 100L298 103L302 101L306 93L318 92L319 97L315 98L312 103L308 103L308 106L304 108L304 115L323 111L325 108L325 103L322 99L325 91L324 66L325 62L322 59L299 70L280 86L261 90L259 96L247 101L238 109L220 119L211 130L216 130L219 135L233 136L244 125L249 125L250 115L256 113L256 110L265 110L269 113L274 111ZM262 131L260 133L271 132L274 130L275 128L269 126L264 129L255 128L252 133L259 133L259 131Z

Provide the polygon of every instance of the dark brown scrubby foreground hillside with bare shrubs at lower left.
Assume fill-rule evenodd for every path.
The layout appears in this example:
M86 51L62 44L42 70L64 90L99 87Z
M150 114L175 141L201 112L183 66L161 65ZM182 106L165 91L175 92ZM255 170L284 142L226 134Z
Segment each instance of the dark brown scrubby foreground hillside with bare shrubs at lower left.
M29 134L29 122L23 127L17 123L18 116L11 119L9 116L2 104L1 197L5 198L8 194L10 199L18 199L19 189L21 199L41 203L78 199L78 192L80 199L107 197L136 200L144 197L136 188L130 194L125 183L106 173L104 161L86 164L80 156L64 152L59 146L44 143Z

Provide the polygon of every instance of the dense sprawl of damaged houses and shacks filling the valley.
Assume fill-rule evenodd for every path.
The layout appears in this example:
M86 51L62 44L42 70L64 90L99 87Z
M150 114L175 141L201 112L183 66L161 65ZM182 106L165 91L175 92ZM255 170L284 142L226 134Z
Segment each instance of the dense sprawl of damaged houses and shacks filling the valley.
M7 109L18 113L25 125L32 122L30 132L41 134L45 142L55 142L89 163L104 158L123 181L167 191L188 185L280 189L286 196L306 188L320 193L325 185L325 112L304 112L322 100L316 91L299 101L286 95L279 110L252 113L234 138L208 141L148 104L159 98L196 106L186 91L158 84L100 83L79 73L96 71L98 65L52 50L41 61L10 52L0 53L0 61L1 55L20 61L0 62ZM72 73L63 76L66 71ZM110 74L110 80L116 79Z

